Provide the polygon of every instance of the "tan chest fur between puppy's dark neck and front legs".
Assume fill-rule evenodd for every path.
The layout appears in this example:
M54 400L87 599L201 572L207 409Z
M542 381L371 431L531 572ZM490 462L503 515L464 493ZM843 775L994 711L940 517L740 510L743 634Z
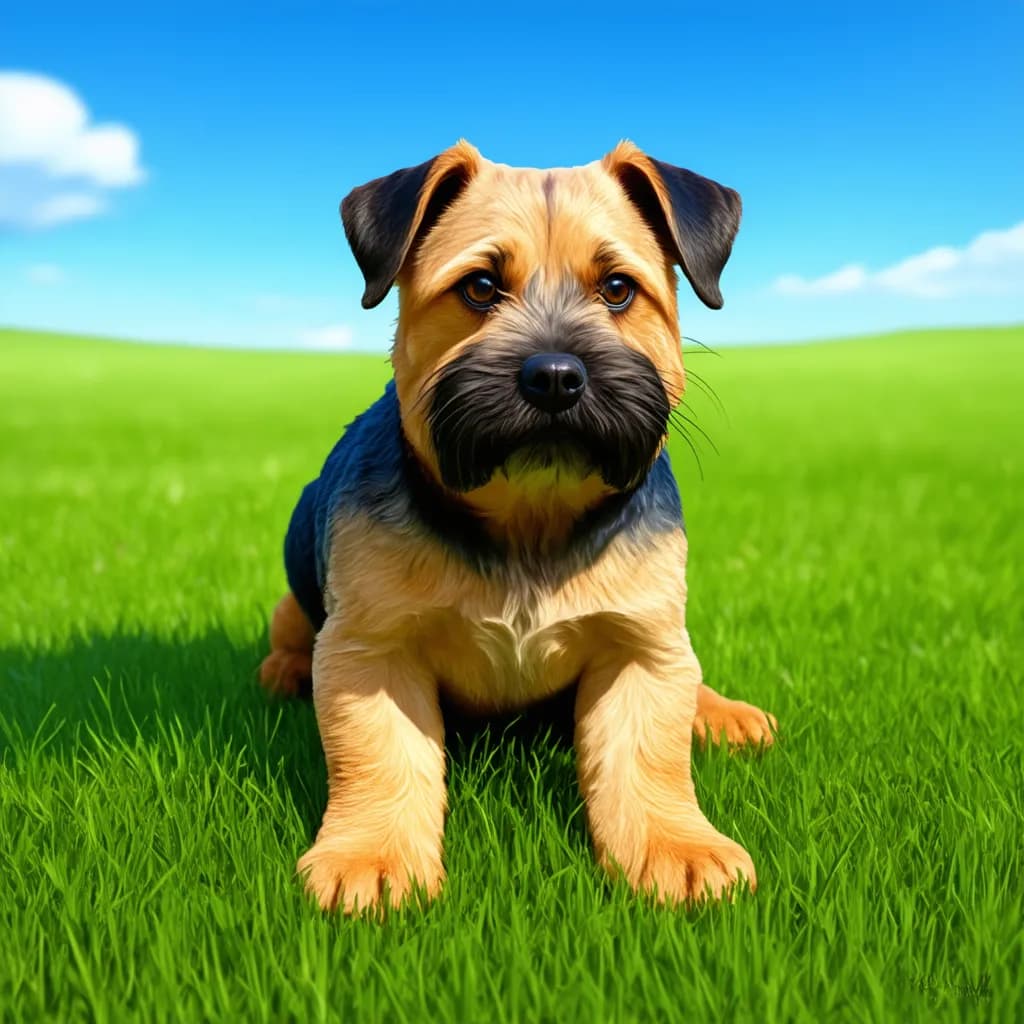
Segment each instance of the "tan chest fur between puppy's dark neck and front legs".
M666 625L683 614L681 531L647 549L617 538L587 570L554 586L488 579L439 546L411 557L364 520L342 521L333 546L362 553L336 559L328 574L329 602L349 609L352 632L375 648L412 651L449 696L479 711L552 695L604 646L659 645ZM317 648L324 642L322 633Z

